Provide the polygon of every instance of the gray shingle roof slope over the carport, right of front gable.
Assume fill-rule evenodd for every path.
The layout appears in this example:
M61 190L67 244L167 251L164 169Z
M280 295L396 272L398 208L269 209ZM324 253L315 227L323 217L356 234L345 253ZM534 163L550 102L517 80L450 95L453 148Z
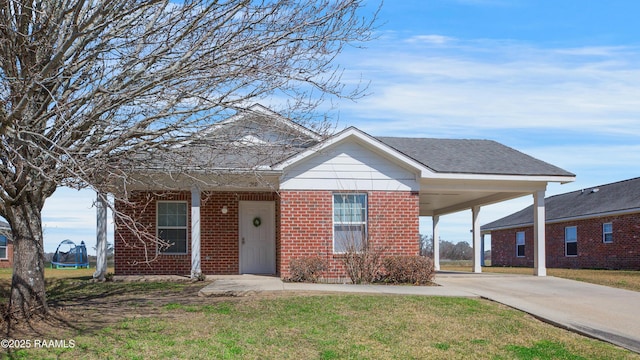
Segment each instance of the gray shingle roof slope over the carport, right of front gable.
M491 140L378 137L435 172L575 176L557 166Z

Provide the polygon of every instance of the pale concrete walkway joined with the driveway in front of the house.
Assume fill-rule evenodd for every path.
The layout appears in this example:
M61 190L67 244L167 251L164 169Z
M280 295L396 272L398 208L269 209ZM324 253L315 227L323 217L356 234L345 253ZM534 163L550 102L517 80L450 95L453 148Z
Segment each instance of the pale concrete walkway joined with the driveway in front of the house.
M319 291L481 297L556 326L640 353L640 292L556 277L440 272L441 286L283 283L269 276L214 277L200 296L244 296L262 291Z

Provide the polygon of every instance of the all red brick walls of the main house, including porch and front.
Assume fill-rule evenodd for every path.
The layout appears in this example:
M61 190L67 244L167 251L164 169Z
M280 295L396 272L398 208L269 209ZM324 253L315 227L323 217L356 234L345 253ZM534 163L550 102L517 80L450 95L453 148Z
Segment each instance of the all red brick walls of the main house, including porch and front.
M369 235L374 246L388 255L419 254L418 194L412 192L368 192ZM129 201L116 204L119 211L137 219L142 234L155 234L156 202L191 202L188 191L156 194L134 193ZM339 254L333 254L333 192L283 191L276 193L204 192L200 207L201 269L205 274L237 274L239 201L275 201L276 268L288 276L289 260L301 256L323 256L329 260L327 277L344 278ZM227 213L222 214L222 207ZM190 224L191 212L188 211ZM279 226L278 226L279 225ZM156 254L152 241L143 242L121 221L115 231L115 273L117 275L177 274L191 272L191 233L187 254ZM145 257L145 249L149 259ZM147 261L153 260L153 261Z

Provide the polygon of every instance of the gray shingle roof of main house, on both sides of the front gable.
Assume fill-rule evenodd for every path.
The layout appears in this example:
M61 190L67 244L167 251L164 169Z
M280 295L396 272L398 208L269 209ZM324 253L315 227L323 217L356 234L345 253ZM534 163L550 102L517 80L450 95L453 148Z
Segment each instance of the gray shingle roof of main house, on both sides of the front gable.
M368 135L370 136L370 135ZM575 176L491 140L377 137L439 173ZM128 159L134 168L172 172L268 168L322 141L320 135L254 105L181 147Z

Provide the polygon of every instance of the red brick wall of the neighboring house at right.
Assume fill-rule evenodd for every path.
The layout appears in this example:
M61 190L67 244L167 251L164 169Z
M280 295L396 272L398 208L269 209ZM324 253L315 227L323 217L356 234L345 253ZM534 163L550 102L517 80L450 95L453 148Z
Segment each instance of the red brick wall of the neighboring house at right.
M602 241L602 225L613 224L613 242ZM576 226L578 256L565 256L564 229ZM526 231L525 259L515 256L517 231ZM496 266L533 265L533 228L491 232L491 261ZM640 269L640 213L546 225L546 261L550 268Z

